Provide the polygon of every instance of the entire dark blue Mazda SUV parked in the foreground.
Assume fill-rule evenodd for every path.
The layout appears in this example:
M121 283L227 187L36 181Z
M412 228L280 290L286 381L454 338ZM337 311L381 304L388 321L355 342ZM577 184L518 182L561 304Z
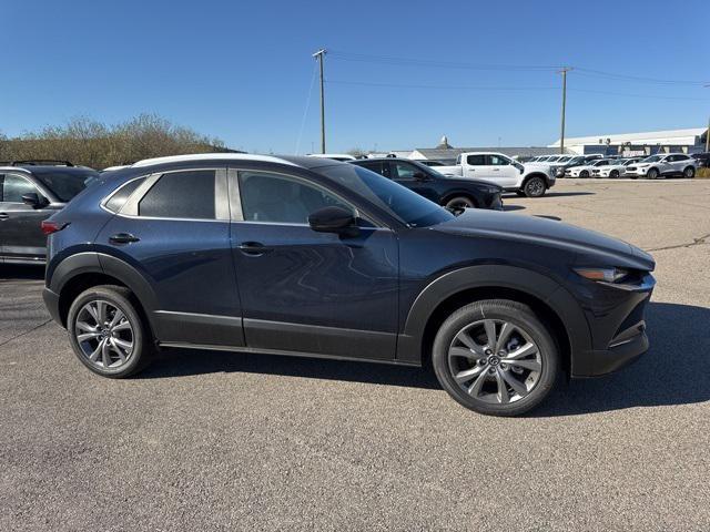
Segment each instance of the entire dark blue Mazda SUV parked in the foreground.
M463 406L515 416L562 372L648 349L650 255L549 219L455 216L331 160L141 161L43 229L47 306L105 377L171 347L430 364Z

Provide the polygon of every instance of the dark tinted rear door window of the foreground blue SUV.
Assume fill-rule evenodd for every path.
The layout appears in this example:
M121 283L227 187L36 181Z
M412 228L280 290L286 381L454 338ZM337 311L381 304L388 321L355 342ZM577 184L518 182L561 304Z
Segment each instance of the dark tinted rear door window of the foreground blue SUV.
M214 170L163 174L138 204L139 216L214 219Z

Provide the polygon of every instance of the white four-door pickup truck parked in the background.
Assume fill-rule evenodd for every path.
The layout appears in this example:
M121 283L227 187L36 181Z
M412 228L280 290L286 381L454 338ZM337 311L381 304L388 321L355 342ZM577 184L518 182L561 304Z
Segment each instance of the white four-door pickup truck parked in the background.
M520 164L503 153L462 153L455 166L436 166L434 170L444 175L489 181L520 196L539 197L555 185L549 164Z

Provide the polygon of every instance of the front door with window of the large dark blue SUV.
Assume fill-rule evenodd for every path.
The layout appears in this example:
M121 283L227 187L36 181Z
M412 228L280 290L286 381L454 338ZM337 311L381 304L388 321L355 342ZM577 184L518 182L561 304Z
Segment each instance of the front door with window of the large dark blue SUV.
M397 335L395 234L307 177L230 171L232 247L246 345L348 358L393 359ZM359 234L311 229L337 205Z

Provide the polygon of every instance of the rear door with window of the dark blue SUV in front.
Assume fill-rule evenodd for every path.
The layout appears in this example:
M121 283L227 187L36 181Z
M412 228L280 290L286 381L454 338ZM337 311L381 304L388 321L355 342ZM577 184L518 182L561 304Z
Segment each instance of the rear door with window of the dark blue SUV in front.
M122 191L104 207L111 209ZM139 269L151 285L158 338L172 345L243 346L226 168L151 174L118 211L97 244Z

